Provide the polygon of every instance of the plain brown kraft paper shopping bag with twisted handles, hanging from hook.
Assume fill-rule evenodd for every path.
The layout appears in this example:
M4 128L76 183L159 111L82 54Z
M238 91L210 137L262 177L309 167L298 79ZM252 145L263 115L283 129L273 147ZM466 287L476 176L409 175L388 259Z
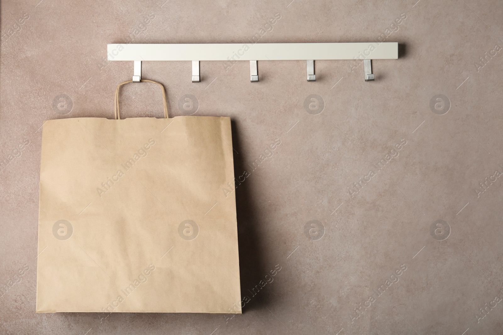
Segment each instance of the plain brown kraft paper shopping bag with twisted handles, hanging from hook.
M159 84L164 119L121 120L120 85L115 120L43 126L36 311L240 313L230 118Z

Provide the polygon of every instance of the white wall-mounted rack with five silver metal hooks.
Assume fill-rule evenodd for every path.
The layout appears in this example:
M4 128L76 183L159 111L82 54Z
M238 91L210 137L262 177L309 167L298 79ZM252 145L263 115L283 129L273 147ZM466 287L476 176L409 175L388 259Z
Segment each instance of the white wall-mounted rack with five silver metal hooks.
M192 81L199 82L199 61L249 61L250 81L259 81L257 61L306 60L307 81L315 81L314 60L360 60L365 81L374 80L372 59L398 59L397 42L369 43L227 43L108 44L109 61L134 61L133 81L141 79L142 61L192 61Z

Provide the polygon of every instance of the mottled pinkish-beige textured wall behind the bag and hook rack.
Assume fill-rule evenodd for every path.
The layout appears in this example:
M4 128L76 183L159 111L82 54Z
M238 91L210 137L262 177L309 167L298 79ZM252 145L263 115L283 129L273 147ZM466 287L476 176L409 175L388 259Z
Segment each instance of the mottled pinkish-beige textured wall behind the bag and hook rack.
M503 332L495 299L503 298L495 173L503 172L503 3L164 1L1 4L0 285L21 280L0 296L1 333ZM143 64L144 78L165 85L173 116L191 94L196 115L232 118L236 177L281 141L236 189L241 291L251 300L243 314L36 315L44 120L113 116L115 86L133 65L108 63L107 43L239 43L263 28L260 43L385 34L401 47L398 60L373 62L374 82L352 61L317 61L316 82L306 82L305 61L263 61L258 83L247 62L202 62L200 83L190 80L190 62ZM323 100L317 115L304 108L310 94ZM128 85L121 102L124 117L162 116L151 85ZM360 178L367 182L357 189ZM305 234L311 220L323 225L319 240ZM272 283L247 293L276 265ZM482 313L485 303L496 306Z

